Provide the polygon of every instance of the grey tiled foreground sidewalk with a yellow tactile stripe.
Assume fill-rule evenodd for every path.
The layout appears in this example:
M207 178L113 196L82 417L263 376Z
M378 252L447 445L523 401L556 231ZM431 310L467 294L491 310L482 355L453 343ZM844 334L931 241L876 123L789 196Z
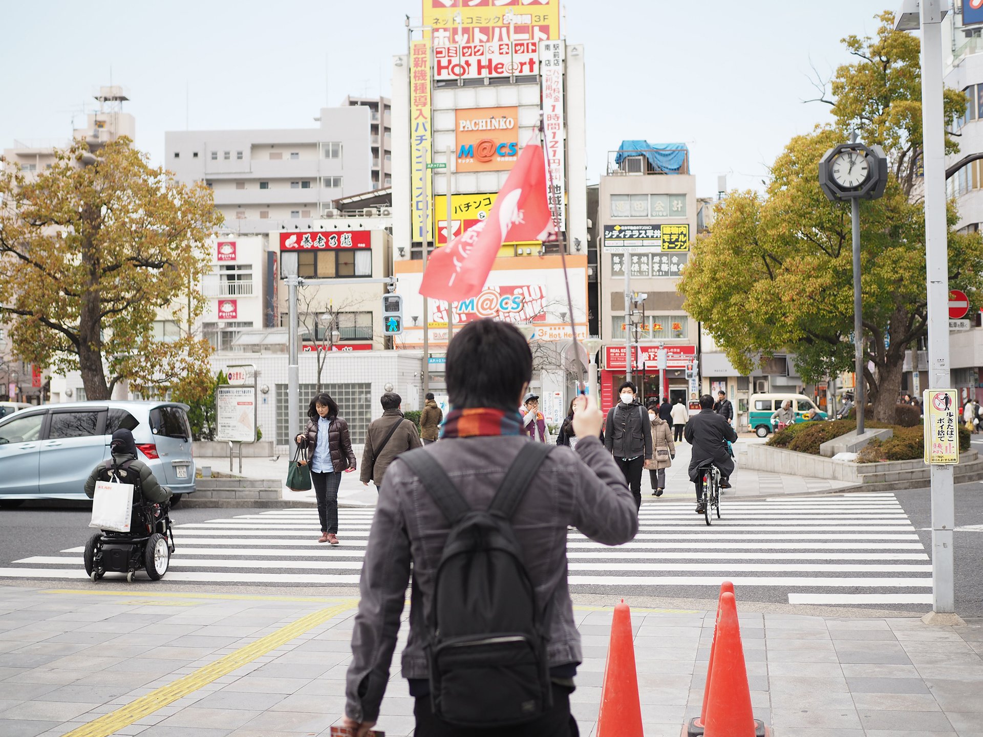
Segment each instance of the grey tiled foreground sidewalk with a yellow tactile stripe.
M0 734L326 737L344 707L355 604L165 594L152 584L4 587ZM590 737L611 609L575 614L584 662L572 702ZM755 716L776 737L983 737L983 620L930 627L744 612L740 622ZM713 612L633 609L646 737L677 737L699 711L713 623ZM398 669L405 634L404 623L378 722L388 737L413 729Z

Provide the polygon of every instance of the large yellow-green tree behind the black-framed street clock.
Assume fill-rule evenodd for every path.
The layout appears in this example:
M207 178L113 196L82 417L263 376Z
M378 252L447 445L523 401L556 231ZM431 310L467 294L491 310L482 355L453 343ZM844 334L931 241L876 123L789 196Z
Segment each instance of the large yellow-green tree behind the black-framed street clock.
M860 141L882 145L887 191L860 201L864 378L875 419L894 423L905 352L927 334L921 68L917 36L894 30L891 13L880 20L876 37L843 39L855 61L838 68L830 93L824 87L820 97L834 120L785 145L763 195L723 199L712 232L694 245L679 291L687 312L743 373L760 357L785 351L808 381L852 370L850 205L823 195L818 165L853 130ZM946 89L939 125L950 127L965 105L963 92ZM946 146L957 150L953 136ZM950 285L979 306L983 241L954 231L954 206L949 215Z

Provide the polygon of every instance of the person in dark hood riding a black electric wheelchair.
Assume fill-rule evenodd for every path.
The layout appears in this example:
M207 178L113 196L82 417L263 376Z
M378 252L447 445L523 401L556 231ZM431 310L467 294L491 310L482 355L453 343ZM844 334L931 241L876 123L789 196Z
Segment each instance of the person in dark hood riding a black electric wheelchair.
M167 572L174 535L169 517L171 490L161 485L149 467L137 460L133 433L118 429L110 444L112 457L99 463L86 481L86 495L92 498L96 482L132 483L133 514L130 532L103 530L86 543L86 573L93 581L106 571L125 573L133 582L136 572L144 568L153 581Z

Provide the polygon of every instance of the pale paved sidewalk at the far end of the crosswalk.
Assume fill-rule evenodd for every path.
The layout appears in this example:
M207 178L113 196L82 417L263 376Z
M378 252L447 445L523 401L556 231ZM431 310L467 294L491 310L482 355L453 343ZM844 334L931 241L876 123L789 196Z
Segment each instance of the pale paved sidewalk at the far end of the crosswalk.
M735 455L740 456L739 448L741 444L751 444L762 442L756 437L741 437L735 447ZM693 499L696 501L696 494L693 484L689 482L688 469L690 458L689 443L683 441L676 445L676 457L672 462L671 468L665 472L665 493L659 498L652 496L652 486L649 482L648 472L642 474L642 499L646 502L658 503L660 499ZM360 446L361 447L361 446ZM361 463L361 450L356 453ZM287 463L290 459L280 456L279 460L268 458L244 458L243 476L252 479L286 479ZM195 463L199 468L211 466L214 471L226 472L229 468L228 458L204 458L196 457ZM236 460L238 464L238 459ZM236 466L238 471L238 466ZM808 494L826 493L836 491L853 484L849 482L838 482L832 479L813 479L803 476L789 476L783 474L770 474L765 471L755 471L754 469L742 469L738 465L736 473L730 482L733 488L724 490L724 496L780 496L781 494ZM309 501L316 503L314 491L291 491L283 487L283 498L296 501ZM376 505L376 486L372 483L363 486L359 481L358 472L345 474L341 478L341 487L338 489L338 502L342 506L375 506Z

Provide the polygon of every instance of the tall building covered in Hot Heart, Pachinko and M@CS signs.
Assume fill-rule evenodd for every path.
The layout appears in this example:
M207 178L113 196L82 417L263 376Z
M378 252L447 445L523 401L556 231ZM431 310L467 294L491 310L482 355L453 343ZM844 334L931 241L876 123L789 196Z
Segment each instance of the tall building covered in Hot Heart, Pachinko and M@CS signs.
M403 334L394 345L421 350L426 331L428 388L439 395L448 307L428 300L424 310L418 292L424 244L441 248L484 220L522 148L543 145L561 239L506 243L486 289L458 303L452 319L459 329L491 316L528 331L534 388L558 396L562 409L582 364L573 355L572 329L587 335L584 48L560 39L558 0L466 9L422 1L430 30L417 31L410 53L393 61L393 273L405 300Z

